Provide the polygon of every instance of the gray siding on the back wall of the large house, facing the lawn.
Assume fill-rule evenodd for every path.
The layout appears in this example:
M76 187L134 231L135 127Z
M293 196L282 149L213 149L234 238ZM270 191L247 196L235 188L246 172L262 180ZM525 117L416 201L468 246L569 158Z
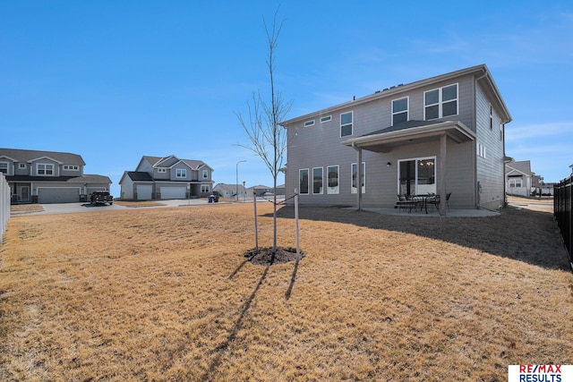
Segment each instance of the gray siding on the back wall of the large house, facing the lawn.
M459 120L475 131L473 123L473 76L456 81L444 81L422 89L398 93L389 98L379 98L367 104L349 106L331 113L332 120L304 127L304 122L289 126L288 172L286 174L286 195L292 195L299 188L299 170L308 168L311 183L309 194L300 195L302 204L355 205L356 194L351 193L351 164L357 161L357 152L342 144L342 141L359 137L391 125L392 100L408 97L408 112L411 120L423 120L423 92L458 83L458 115L441 120ZM340 115L354 112L352 136L340 137ZM488 111L489 113L489 111ZM320 117L317 116L318 120ZM440 121L440 120L436 120ZM448 163L446 174L448 191L452 191L450 207L474 208L475 150L474 142L458 144L448 140ZM296 153L296 154L295 154ZM303 154L304 153L304 154ZM440 142L411 145L389 153L375 153L363 150L365 163L365 192L363 205L393 206L398 191L398 160L412 157L439 157ZM387 167L390 162L392 166ZM327 182L328 166L338 166L338 194L312 194L312 168L322 167Z

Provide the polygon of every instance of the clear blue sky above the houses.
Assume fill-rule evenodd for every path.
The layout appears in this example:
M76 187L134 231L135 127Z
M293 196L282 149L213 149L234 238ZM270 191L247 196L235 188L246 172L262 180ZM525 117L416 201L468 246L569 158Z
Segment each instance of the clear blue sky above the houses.
M487 64L513 121L506 153L545 182L573 164L568 1L3 1L0 147L80 154L112 192L141 156L201 159L216 183L272 184L235 112L268 94L262 17L284 27L288 117ZM283 180L279 180L282 183Z

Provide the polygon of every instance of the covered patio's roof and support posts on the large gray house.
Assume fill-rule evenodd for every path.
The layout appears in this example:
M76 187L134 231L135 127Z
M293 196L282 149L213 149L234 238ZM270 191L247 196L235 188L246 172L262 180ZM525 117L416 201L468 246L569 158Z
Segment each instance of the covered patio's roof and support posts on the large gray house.
M342 143L356 150L356 163L363 163L363 150L377 153L389 153L407 145L440 141L440 153L437 156L437 194L440 195L439 214L447 213L446 192L446 159L448 157L448 139L454 143L475 140L475 132L459 121L407 121L386 129L371 132L360 137L345 140ZM357 167L357 179L363 179L362 166ZM356 208L363 209L362 190L356 187ZM398 208L399 209L399 208ZM398 211L397 211L398 212Z

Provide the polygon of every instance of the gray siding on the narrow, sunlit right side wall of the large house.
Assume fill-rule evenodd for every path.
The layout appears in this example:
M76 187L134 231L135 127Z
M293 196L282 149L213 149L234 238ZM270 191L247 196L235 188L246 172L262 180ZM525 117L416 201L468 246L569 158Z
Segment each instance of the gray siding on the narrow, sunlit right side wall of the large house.
M476 152L476 179L481 184L481 191L479 188L477 191L478 202L484 208L500 208L504 201L505 182L500 117L494 109L493 127L490 129L490 102L479 85L475 87L475 123L476 145L481 144L486 148L484 158Z

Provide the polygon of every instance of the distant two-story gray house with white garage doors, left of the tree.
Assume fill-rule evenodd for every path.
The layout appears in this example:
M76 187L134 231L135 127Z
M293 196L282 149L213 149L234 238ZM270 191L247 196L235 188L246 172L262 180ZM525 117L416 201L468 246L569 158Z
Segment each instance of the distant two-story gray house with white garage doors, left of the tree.
M213 169L201 160L141 157L135 171L126 171L119 184L122 199L190 199L209 196Z

